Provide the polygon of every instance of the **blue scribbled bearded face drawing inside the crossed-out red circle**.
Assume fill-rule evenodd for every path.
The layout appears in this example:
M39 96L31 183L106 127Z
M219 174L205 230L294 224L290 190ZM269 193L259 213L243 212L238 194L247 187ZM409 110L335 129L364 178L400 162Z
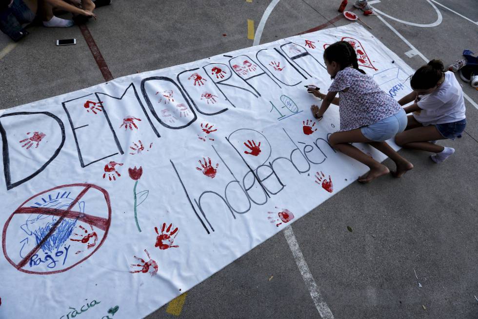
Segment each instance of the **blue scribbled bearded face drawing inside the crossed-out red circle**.
M41 198L43 201L35 202L36 206L31 206L34 208L49 208L54 210L66 210L73 202L74 199L69 198L69 192L49 194L48 198ZM76 205L80 208L74 209L75 211L80 211L80 213L84 213L85 203L84 201L78 202ZM78 217L80 218L80 216ZM53 234L51 234L41 245L41 249L45 253L55 253L57 252L61 246L68 240L71 236L73 229L75 228L78 218L71 219L65 218L61 220L60 224L57 226ZM50 232L53 225L60 219L59 216L55 215L45 215L45 214L30 214L28 218L25 220L25 223L20 226L20 228L30 237L34 237L36 244L40 244L41 240ZM32 238L33 239L33 238ZM25 239L20 241L20 244L23 242L23 245L20 248L20 257L24 257L21 254L23 247L25 246L24 243ZM26 244L28 244L28 237L26 238Z

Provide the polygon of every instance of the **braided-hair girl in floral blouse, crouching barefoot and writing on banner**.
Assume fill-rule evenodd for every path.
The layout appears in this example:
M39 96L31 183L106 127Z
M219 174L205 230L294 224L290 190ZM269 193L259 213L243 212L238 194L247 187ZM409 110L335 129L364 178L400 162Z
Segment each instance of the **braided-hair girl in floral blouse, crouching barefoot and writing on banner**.
M359 69L357 54L350 43L339 41L327 47L324 61L334 80L329 92L325 95L312 87L308 92L323 100L320 108L317 105L311 107L314 117L319 120L331 103L339 105L340 130L330 136L330 145L370 168L367 174L359 177L360 182L368 183L390 173L390 170L351 143L368 143L387 155L397 165L397 170L392 173L395 177L411 170L412 163L385 142L407 126L402 107ZM337 93L339 98L336 98Z

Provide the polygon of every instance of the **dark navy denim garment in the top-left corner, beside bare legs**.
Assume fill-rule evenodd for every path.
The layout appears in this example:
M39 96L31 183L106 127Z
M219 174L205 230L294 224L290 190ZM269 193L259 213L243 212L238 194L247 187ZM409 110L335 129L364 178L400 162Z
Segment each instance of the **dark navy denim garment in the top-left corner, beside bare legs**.
M12 38L20 40L26 33L21 26L35 19L35 13L22 0L14 0L10 8L0 11L0 30ZM28 34L28 33L27 33Z

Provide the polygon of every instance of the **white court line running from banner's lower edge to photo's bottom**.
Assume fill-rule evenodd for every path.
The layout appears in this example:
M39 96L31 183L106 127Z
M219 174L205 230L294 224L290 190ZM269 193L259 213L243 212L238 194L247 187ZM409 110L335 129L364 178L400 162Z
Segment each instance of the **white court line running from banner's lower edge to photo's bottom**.
M310 273L309 266L307 266L307 262L304 259L304 255L302 255L299 243L297 242L296 236L294 235L294 231L292 230L291 226L287 226L284 229L284 236L285 239L287 239L287 243L289 244L290 250L292 251L292 255L296 260L297 267L299 267L300 274L305 281L305 285L309 289L310 296L312 297L312 300L314 300L314 304L319 311L320 317L322 317L322 319L334 319L332 311L330 311L329 306L327 306L327 304L322 299L319 287L317 286L314 277L312 277L312 274Z

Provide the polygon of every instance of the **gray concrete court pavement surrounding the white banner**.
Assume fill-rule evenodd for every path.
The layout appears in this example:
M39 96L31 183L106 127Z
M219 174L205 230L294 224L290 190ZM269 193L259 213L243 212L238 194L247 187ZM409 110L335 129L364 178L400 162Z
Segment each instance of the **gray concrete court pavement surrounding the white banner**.
M252 45L246 20L254 20L257 27L269 2L113 0L113 5L97 10L99 19L88 28L118 78ZM335 18L339 2L280 1L261 43ZM478 21L476 0L438 2ZM382 0L374 6L400 20L437 20L425 0ZM440 6L438 10L443 21L431 28L385 20L429 59L449 63L465 48L478 51L478 26ZM424 64L418 56L408 58L409 46L377 17L364 20L371 33L410 66ZM339 20L330 27L347 23ZM0 60L0 108L104 81L77 27L36 26L30 31ZM57 39L65 38L76 38L78 44L55 46ZM8 43L1 34L0 50ZM463 88L478 102L477 90L465 83ZM456 141L440 142L457 150L446 162L436 165L424 152L401 150L415 165L403 179L356 182L293 224L335 318L478 318L478 110L466 104L466 133ZM393 167L390 160L385 163ZM147 318L175 317L162 307ZM178 318L320 317L279 233L191 289Z

